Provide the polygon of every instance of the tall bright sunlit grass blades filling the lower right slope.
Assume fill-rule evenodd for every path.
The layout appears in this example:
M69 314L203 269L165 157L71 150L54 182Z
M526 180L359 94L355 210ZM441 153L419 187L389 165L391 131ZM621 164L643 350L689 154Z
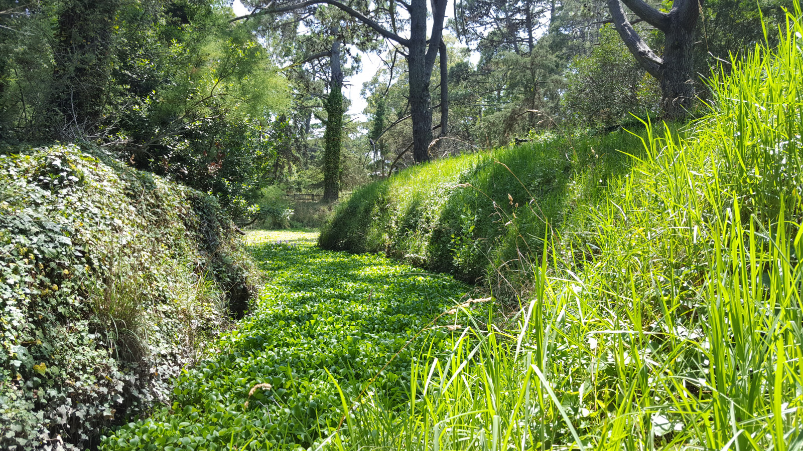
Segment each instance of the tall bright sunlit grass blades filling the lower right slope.
M457 325L447 356L423 348L409 408L366 400L330 442L803 449L799 15L712 83L690 130L650 125L604 184L579 170L520 311Z

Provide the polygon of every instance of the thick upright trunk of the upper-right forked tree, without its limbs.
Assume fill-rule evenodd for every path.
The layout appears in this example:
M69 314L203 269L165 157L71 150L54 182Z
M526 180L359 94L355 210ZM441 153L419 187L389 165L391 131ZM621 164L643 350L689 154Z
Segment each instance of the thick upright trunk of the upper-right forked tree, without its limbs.
M695 32L673 23L666 31L661 64L661 94L664 116L681 119L695 98Z

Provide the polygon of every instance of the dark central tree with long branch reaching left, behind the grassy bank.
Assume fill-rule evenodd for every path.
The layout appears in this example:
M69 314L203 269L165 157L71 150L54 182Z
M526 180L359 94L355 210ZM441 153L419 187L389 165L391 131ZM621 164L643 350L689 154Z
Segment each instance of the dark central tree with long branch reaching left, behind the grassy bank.
M388 11L390 28L382 26L373 18L336 0L307 0L305 2L289 2L276 5L268 3L263 10L246 14L233 21L254 17L261 14L276 14L292 10L300 10L308 6L328 4L339 8L346 14L363 22L382 37L406 47L407 67L410 71L410 116L413 120L413 157L416 163L429 160L429 146L432 142L432 108L430 99L430 82L432 69L440 53L443 34L443 22L446 16L446 0L389 0L379 5L378 10ZM429 13L428 4L432 6L432 28L427 39L426 20ZM410 14L410 38L402 38L397 34L397 18L395 8L402 6ZM446 87L444 87L446 89Z

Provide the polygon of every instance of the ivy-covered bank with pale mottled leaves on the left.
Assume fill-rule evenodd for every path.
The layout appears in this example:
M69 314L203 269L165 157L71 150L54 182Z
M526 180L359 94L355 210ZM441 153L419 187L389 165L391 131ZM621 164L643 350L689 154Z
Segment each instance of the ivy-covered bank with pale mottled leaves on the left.
M213 197L94 152L0 152L0 449L92 447L169 400L255 291Z

